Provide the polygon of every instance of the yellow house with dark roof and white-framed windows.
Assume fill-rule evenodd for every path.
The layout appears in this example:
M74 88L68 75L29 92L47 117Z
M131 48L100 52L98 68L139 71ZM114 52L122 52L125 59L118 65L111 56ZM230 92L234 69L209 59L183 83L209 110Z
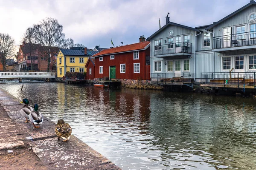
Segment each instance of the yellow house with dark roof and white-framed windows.
M73 47L61 48L57 54L57 77L63 77L69 72L86 72L85 64L90 56L99 51L87 50L87 48Z

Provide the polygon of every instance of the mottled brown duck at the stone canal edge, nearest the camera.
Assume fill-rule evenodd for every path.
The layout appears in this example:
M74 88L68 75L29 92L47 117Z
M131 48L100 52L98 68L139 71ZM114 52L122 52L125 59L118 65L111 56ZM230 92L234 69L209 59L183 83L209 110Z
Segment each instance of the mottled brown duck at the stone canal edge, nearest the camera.
M72 129L68 123L65 123L63 119L59 119L57 125L55 126L55 133L58 136L58 141L60 138L64 139L63 142L70 139Z

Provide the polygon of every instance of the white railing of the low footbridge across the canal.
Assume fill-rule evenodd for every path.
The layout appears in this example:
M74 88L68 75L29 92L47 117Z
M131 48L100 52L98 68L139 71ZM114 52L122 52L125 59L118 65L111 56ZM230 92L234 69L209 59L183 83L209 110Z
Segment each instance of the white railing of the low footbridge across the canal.
M48 72L0 72L0 79L5 78L55 78L55 73Z

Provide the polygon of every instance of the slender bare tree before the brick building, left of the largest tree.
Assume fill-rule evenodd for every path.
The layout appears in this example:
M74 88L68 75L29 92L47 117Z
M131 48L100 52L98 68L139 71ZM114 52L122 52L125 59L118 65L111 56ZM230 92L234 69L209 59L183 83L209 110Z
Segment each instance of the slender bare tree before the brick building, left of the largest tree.
M23 37L22 37L22 40L21 40L22 42L27 42L28 43L28 46L29 46L28 52L29 52L29 55L30 55L31 70L33 70L32 52L34 52L36 50L36 47L37 47L37 45L35 44L36 39L33 36L33 33L34 33L33 28L31 28L31 27L27 28L25 33L23 34Z

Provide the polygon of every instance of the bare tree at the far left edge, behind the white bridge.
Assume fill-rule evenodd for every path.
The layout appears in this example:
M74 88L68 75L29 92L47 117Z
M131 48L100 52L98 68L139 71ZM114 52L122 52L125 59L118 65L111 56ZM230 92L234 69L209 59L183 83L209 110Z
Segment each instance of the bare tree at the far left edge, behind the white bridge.
M0 33L0 62L6 71L6 62L15 54L15 41L9 34Z

